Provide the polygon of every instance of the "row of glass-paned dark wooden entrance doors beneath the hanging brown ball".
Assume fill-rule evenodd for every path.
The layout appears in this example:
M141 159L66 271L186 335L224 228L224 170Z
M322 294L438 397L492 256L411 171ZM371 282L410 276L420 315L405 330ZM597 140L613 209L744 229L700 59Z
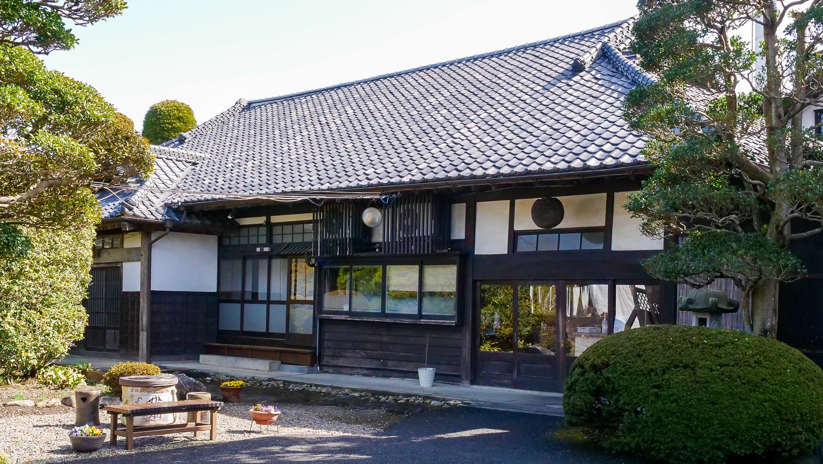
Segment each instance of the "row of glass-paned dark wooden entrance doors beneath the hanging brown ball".
M475 383L560 392L571 364L613 332L659 323L648 283L479 282Z

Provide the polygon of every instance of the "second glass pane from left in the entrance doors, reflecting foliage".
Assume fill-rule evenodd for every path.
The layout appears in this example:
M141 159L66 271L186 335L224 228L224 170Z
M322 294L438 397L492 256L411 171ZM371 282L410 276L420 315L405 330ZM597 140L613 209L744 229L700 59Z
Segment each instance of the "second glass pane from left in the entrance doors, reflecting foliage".
M518 285L519 353L554 355L557 352L555 285Z

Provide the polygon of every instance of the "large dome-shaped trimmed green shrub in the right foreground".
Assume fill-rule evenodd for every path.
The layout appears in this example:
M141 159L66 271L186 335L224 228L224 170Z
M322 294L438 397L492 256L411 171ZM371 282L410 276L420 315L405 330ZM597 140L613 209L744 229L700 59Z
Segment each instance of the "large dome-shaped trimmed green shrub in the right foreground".
M563 410L603 446L653 459L793 457L823 437L823 371L791 346L746 332L640 327L574 361Z

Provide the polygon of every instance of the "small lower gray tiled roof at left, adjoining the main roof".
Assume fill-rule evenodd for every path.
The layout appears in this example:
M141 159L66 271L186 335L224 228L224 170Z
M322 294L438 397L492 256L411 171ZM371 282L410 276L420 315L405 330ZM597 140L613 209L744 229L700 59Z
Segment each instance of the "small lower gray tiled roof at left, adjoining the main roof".
M170 196L166 190L177 186L180 177L207 156L167 146L151 146L151 151L155 155L155 168L148 179L134 179L123 185L101 188L96 193L103 208L103 219L118 216L143 220L179 219L175 211L165 207Z

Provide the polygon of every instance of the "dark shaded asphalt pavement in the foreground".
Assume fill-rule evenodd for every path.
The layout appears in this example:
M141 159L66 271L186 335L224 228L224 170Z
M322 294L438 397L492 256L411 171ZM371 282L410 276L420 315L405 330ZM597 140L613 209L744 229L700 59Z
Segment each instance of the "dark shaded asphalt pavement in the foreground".
M379 438L288 438L267 435L129 456L84 459L77 464L640 464L598 447L554 438L559 417L456 407L424 411L384 429ZM122 443L122 440L121 440ZM135 439L140 447L140 438Z

